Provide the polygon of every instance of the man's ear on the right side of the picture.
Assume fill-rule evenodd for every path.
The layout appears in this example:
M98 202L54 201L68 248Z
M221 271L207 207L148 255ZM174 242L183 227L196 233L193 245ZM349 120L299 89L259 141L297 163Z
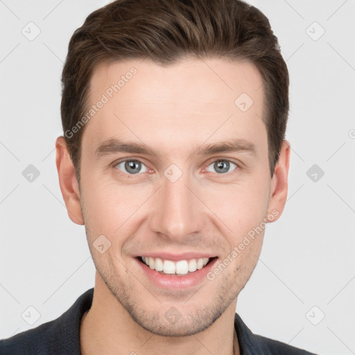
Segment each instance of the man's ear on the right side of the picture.
M287 199L290 151L290 144L286 141L286 139L284 139L284 141L282 141L282 148L279 154L279 161L275 166L274 176L271 180L270 199L268 205L268 215L274 210L278 213L272 213L274 218L272 218L272 220L268 219L268 222L275 222L275 220L278 220L282 214L282 211L284 211Z

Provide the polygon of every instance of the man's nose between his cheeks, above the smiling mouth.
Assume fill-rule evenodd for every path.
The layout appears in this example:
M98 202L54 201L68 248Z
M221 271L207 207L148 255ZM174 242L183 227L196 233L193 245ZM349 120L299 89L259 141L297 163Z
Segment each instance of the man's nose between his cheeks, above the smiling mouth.
M187 173L175 182L163 176L162 187L152 202L150 230L179 243L200 234L206 211L196 187Z

